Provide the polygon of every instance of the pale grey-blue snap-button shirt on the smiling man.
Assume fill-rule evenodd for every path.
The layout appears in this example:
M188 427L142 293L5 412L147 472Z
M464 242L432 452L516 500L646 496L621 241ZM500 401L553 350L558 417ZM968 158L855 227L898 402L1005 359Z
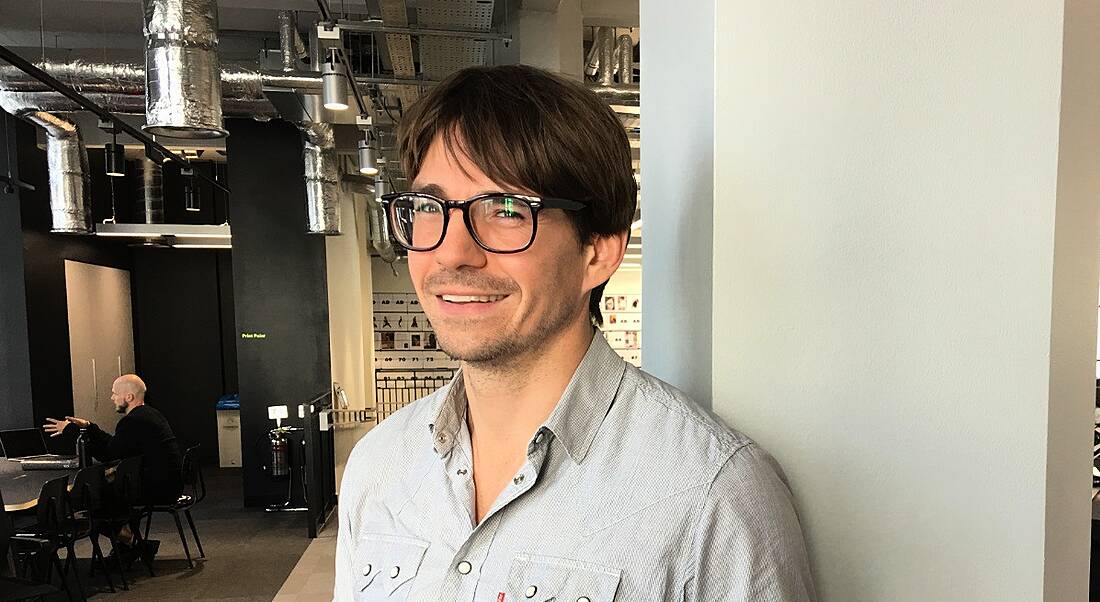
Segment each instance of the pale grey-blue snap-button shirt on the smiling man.
M771 457L598 333L481 524L465 409L460 373L355 446L336 600L815 599Z

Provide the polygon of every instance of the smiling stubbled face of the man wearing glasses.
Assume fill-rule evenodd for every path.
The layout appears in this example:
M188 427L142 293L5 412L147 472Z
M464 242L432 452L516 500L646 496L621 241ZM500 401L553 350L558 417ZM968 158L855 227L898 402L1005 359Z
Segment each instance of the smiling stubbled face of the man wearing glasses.
M463 153L455 154L437 138L413 189L451 200L482 193L531 194L495 184ZM506 366L578 320L586 321L590 256L591 248L580 243L559 209L539 214L535 242L515 254L477 247L461 211L453 210L439 248L409 252L409 273L440 348L468 362Z

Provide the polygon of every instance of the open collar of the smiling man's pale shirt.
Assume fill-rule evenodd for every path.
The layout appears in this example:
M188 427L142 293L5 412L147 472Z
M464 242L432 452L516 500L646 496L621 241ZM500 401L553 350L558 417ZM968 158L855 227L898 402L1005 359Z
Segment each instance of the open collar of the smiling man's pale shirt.
M542 425L561 440L574 462L581 463L587 456L625 372L626 362L597 331L561 399ZM428 429L432 448L443 457L454 448L459 429L463 428L466 418L466 388L461 370L439 391L439 398L436 419L428 425Z

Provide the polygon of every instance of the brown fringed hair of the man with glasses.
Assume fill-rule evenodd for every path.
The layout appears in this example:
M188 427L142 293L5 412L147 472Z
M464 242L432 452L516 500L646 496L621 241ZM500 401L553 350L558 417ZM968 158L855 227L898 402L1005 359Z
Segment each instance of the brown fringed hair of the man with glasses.
M582 242L630 229L638 185L626 130L580 83L525 65L462 69L402 120L397 144L409 182L436 136L452 156L461 151L495 182L588 204L566 212ZM588 298L596 326L603 325L606 285Z

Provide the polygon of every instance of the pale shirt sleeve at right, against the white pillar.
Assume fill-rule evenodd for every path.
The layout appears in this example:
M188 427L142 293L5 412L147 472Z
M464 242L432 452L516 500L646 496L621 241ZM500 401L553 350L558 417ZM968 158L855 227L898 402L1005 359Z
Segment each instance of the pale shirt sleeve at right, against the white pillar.
M722 467L703 502L685 602L814 602L802 527L776 461L754 444Z

